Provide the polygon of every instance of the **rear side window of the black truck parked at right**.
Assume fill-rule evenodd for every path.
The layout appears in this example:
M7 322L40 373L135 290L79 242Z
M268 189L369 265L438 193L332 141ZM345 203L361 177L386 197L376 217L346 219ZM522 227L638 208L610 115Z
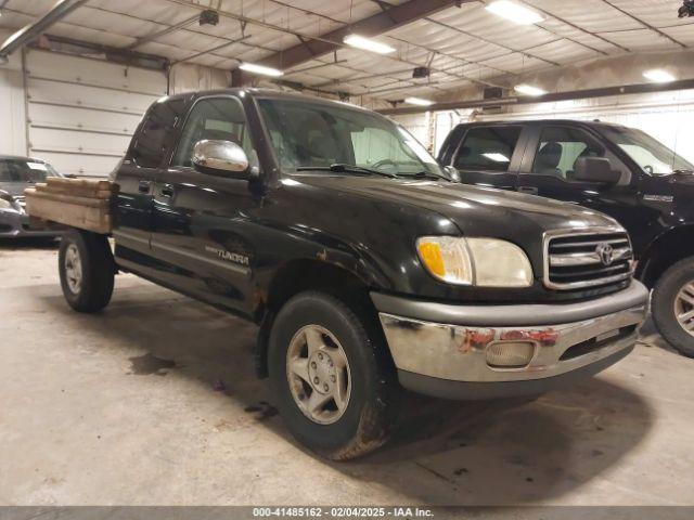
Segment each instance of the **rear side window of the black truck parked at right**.
M453 166L460 170L509 171L520 130L520 127L470 129L458 150Z

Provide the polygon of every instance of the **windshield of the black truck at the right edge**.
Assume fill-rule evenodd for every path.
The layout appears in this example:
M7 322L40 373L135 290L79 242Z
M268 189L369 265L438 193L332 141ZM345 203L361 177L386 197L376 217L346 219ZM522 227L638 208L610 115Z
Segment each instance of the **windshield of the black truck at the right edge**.
M607 128L603 132L646 173L667 176L677 170L694 170L690 161L641 130Z

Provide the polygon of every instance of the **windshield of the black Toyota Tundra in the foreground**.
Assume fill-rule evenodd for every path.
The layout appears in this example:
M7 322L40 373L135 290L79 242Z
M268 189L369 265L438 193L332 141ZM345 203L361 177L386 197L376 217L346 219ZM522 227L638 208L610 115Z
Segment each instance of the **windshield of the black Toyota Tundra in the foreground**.
M259 100L284 171L352 165L398 176L447 177L404 128L369 112L296 100Z

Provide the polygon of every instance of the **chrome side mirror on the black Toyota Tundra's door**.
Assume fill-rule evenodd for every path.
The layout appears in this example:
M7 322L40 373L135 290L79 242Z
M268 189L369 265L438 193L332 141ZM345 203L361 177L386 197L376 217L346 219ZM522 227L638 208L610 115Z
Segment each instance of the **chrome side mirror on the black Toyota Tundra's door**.
M203 140L193 147L193 168L202 173L248 179L249 162L241 146L231 141Z

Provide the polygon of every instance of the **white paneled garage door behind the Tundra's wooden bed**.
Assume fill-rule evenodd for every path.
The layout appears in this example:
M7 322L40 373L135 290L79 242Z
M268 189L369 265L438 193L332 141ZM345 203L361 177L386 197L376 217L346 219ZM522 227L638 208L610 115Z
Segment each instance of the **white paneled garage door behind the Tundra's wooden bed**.
M146 108L166 94L163 72L29 50L29 155L62 173L106 177Z

